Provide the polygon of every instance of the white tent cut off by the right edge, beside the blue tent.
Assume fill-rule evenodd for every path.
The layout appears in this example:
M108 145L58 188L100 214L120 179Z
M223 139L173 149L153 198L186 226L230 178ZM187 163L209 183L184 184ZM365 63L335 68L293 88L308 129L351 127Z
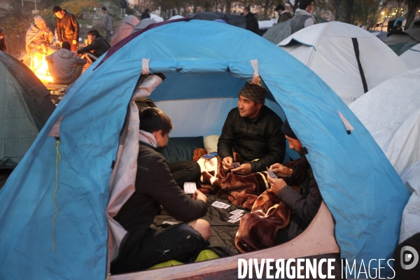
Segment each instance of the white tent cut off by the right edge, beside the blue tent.
M381 83L353 102L412 196L402 212L400 242L420 232L420 68Z

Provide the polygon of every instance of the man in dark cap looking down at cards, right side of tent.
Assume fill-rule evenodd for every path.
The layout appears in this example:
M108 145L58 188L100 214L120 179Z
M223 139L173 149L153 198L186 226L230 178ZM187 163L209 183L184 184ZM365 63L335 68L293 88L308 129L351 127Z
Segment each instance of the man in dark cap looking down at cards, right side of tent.
M267 181L274 193L279 195L279 199L293 212L290 225L277 232L276 244L285 243L300 235L311 223L316 213L318 213L322 202L322 196L315 181L314 172L312 172L311 165L309 165L306 155L304 155L302 143L297 139L288 120L283 123L281 131L288 140L289 148L297 151L302 158L298 160L293 169L279 163L269 167L279 179L272 179L270 176L267 176ZM293 190L291 186L298 186L299 193Z

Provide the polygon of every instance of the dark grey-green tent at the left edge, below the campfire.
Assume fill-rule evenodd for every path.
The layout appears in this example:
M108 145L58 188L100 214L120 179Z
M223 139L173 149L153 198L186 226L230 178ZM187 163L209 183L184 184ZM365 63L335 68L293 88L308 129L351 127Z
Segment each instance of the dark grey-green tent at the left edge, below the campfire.
M55 106L35 74L6 52L0 52L0 85L0 169L15 168Z

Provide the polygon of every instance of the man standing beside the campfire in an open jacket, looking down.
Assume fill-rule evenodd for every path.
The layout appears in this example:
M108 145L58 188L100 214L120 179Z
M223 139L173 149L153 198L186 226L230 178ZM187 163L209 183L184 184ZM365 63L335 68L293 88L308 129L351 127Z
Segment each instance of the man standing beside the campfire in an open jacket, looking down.
M57 39L61 43L69 42L71 51L78 50L79 28L76 15L63 10L59 6L52 9L55 15L55 25L57 26Z

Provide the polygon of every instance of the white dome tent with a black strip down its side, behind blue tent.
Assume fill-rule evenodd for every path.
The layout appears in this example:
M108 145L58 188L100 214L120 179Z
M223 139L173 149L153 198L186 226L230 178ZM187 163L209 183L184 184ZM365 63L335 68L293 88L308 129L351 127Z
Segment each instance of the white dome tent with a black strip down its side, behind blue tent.
M279 45L318 74L346 104L408 70L376 36L342 22L301 29Z

